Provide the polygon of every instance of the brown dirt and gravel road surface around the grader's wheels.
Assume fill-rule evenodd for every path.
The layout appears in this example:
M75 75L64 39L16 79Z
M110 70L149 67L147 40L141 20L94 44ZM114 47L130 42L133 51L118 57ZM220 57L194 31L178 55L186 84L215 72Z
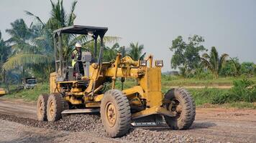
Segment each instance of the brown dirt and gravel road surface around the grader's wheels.
M155 142L161 137L177 138L173 142L256 142L256 110L252 109L198 108L191 129L173 131L165 125L136 127L122 139L111 139L90 130L70 132L67 128L32 127L30 122L36 122L35 109L33 103L0 99L0 142ZM149 134L156 137L148 140L144 136ZM186 139L180 140L182 137Z

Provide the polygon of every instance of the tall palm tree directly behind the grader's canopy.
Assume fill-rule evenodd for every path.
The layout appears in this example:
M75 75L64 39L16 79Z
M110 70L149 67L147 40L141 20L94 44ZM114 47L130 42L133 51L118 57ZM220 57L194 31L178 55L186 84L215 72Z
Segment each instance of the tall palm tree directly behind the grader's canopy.
M39 16L35 16L35 14L32 14L31 12L25 11L27 15L32 16L34 19L36 19L37 23L39 23L42 26L42 29L45 33L45 34L41 34L42 36L37 37L35 39L37 40L37 43L47 44L47 42L49 43L50 41L50 46L52 46L53 45L52 32L64 26L72 26L74 24L74 21L76 19L76 14L74 13L74 11L76 9L77 2L78 1L73 1L70 12L67 13L63 7L63 0L58 0L56 3L53 3L52 1L50 1L52 5L52 9L50 11L51 16L46 23L44 23ZM67 62L68 60L70 60L70 54L73 51L74 45L76 44L77 41L80 41L82 45L86 45L87 47L89 45L90 49L91 47L93 47L93 46L90 46L90 45L93 45L93 40L91 40L90 36L85 36L85 35L76 36L76 35L68 34L68 35L63 35L62 39L63 39L62 41L63 59ZM120 39L119 37L105 36L104 43L118 41L119 39ZM92 51L93 49L91 49L91 52Z

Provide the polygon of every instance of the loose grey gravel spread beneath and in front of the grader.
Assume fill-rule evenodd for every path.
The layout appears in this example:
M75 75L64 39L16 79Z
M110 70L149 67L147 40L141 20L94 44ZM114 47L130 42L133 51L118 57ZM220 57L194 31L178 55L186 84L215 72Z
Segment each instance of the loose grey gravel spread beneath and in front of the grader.
M25 124L31 127L40 127L69 132L91 132L99 137L106 137L99 115L74 114L60 119L58 122L38 122L34 119L15 117L13 115L0 115L0 119ZM121 138L114 139L119 142L211 142L202 138L191 137L188 134L168 132L168 130L152 131L149 129L132 128Z

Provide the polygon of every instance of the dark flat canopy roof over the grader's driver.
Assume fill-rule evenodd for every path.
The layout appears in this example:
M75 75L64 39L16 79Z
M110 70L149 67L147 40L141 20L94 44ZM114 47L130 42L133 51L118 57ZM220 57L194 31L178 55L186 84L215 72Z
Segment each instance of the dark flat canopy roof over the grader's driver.
M73 25L67 26L53 31L55 34L60 32L60 34L86 34L88 35L88 31L93 32L95 36L104 36L106 31L108 31L107 27L97 27L97 26L82 26L82 25Z

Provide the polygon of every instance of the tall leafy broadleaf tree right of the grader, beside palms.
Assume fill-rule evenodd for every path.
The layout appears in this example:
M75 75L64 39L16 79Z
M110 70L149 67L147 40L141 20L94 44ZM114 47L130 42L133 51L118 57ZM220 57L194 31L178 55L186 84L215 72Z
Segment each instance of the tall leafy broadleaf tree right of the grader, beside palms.
M182 36L178 36L172 41L170 51L174 51L171 58L171 67L173 69L183 69L183 74L190 73L200 66L200 52L205 48L202 45L204 38L193 35L188 37L188 43L183 41Z

